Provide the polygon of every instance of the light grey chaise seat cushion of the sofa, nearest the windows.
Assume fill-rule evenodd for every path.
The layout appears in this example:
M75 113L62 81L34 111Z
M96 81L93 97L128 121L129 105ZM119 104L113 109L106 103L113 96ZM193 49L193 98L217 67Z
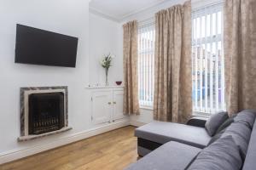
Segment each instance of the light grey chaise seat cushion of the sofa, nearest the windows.
M211 137L204 127L193 127L173 122L151 122L135 130L135 136L159 144L177 141L197 148L204 148Z

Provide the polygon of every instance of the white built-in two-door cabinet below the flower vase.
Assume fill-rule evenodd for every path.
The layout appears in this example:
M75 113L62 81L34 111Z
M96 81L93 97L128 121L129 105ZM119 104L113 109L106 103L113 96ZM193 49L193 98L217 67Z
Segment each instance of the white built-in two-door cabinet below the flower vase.
M125 117L122 87L90 88L90 94L91 121L94 124L115 122Z

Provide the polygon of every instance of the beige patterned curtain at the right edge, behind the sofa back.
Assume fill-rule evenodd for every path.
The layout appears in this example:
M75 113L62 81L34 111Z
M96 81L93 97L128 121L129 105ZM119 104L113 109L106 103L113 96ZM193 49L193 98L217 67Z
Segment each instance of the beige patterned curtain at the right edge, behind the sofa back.
M256 0L226 0L224 65L227 110L256 109Z

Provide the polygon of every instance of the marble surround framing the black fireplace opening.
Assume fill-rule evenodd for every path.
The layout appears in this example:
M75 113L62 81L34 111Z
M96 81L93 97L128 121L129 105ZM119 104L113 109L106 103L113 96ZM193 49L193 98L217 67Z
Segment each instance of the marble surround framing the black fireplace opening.
M58 93L64 94L64 127L59 130L52 131L49 133L42 133L38 135L32 135L28 133L28 96L30 94L44 94L44 93ZM18 141L26 141L31 139L38 139L44 136L49 136L55 133L66 132L72 127L68 127L68 108L67 108L67 86L58 87L31 87L31 88L20 88L20 137Z

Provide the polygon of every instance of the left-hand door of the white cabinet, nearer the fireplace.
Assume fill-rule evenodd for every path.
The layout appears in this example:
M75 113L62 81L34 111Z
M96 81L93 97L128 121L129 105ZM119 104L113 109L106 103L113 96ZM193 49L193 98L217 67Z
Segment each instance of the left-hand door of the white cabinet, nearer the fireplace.
M92 122L95 124L110 122L112 113L112 91L92 93Z

